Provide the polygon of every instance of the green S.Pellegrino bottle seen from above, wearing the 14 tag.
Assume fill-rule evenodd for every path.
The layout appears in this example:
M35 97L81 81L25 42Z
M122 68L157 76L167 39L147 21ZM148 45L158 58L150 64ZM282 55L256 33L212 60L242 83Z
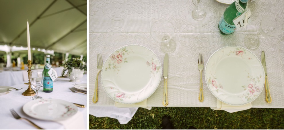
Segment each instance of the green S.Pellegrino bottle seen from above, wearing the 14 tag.
M241 10L246 9L247 3L248 0L236 0L231 5L229 5L227 9L225 9L223 17L218 24L218 28L221 34L225 35L234 33L236 26L233 20L243 13ZM240 7L238 6L241 6L242 9L240 9Z

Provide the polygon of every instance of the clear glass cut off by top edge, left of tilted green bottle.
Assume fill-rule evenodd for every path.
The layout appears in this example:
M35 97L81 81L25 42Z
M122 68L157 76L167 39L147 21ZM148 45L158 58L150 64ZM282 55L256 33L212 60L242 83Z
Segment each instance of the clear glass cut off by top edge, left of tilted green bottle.
M192 18L195 20L202 20L206 16L206 7L209 4L209 0L192 0L194 9L192 10Z

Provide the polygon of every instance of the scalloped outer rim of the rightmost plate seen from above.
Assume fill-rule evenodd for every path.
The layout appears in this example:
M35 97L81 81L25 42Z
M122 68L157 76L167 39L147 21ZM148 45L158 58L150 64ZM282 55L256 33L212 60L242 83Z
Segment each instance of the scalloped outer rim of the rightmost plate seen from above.
M211 57L212 57L215 53L217 53L218 51L220 51L221 49L224 49L224 48L227 48L227 47L239 47L239 48L245 49L246 51L250 52L250 53L258 60L258 62L260 63L260 65L261 65L261 67L262 67L262 64L261 64L260 60L257 58L257 56L256 56L254 53L252 53L252 51L250 51L250 50L248 50L248 49L246 49L246 48L244 48L244 47L241 47L241 46L226 46L226 47L222 47L222 48L218 49L217 51L215 51L215 52L209 57L209 59L207 60L207 63L206 63L206 66L205 66L205 71L204 71L205 80L207 79L207 78L206 78L206 77L207 77L207 76L206 76L207 65L208 65L208 62L210 61ZM262 80L265 81L265 73L264 73L263 67L262 67L262 72L263 72ZM265 84L265 82L263 82L263 84L262 84L260 93L262 92L262 90L263 90L263 88L264 88L264 84ZM210 87L209 87L207 81L206 81L206 85L207 85L209 91L212 93L212 95L214 95L214 93L211 91L211 89L210 89ZM254 101L255 99L258 98L258 96L260 95L260 93L257 95L256 98L254 98L253 100L251 100L251 101L249 101L249 102L247 102L247 103L244 103L244 104L233 104L233 103L224 102L224 101L220 100L216 95L214 95L214 96L215 96L218 100L220 100L220 101L222 101L222 102L224 102L224 103L226 103L226 104L239 106L239 105L245 105L245 104L251 103L252 101Z

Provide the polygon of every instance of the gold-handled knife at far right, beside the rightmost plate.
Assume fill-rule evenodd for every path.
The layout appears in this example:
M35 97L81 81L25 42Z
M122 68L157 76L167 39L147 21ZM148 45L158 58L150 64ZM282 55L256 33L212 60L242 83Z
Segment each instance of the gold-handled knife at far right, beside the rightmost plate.
M270 96L270 90L269 90L269 84L268 84L268 80L267 80L267 71L266 71L266 62L265 62L265 54L264 51L262 51L261 53L261 64L262 67L264 69L264 73L265 73L265 101L267 101L267 103L271 103L272 99Z

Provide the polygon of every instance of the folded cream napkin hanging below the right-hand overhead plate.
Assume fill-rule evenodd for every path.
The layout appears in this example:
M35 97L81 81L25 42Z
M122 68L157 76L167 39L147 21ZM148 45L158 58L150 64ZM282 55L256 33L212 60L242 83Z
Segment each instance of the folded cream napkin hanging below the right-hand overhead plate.
M224 110L229 113L237 112L237 111L243 111L252 108L252 103L248 103L245 105L239 105L239 106L234 106L234 105L229 105L226 103L221 102L220 100L217 99L217 107L211 107L213 110Z

